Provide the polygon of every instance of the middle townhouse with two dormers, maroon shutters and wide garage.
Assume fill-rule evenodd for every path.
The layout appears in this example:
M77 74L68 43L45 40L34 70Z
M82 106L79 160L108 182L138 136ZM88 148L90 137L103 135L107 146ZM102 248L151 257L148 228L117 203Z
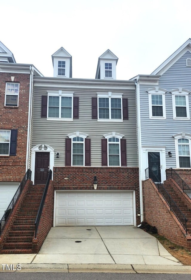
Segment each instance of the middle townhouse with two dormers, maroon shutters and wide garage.
M31 170L34 184L53 171L53 225L140 223L134 81L110 50L96 79L73 79L64 48L52 58L54 77L34 77Z

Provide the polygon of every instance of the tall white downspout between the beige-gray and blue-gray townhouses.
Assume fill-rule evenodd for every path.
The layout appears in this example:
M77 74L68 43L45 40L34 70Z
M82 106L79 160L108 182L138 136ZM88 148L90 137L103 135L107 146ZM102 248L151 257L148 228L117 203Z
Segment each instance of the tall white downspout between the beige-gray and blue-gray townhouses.
M137 141L138 141L138 167L139 167L139 193L140 193L140 214L141 222L143 221L143 191L142 191L142 155L141 155L141 116L140 116L140 92L139 92L139 76L136 79L136 113L137 113Z

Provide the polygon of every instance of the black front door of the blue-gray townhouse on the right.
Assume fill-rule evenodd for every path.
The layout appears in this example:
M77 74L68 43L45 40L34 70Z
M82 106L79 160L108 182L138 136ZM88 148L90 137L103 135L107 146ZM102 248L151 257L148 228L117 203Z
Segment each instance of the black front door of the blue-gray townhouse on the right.
M148 152L149 167L157 177L158 181L161 182L161 163L159 152Z

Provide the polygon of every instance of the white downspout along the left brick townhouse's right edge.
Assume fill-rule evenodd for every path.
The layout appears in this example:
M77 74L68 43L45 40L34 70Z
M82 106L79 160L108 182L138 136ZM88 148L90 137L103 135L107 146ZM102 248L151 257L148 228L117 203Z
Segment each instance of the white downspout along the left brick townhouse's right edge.
M31 96L32 96L33 68L30 65L30 88L29 88L29 110L28 110L28 127L27 127L27 153L26 153L26 172L29 167L29 147L30 147L30 130L31 130Z

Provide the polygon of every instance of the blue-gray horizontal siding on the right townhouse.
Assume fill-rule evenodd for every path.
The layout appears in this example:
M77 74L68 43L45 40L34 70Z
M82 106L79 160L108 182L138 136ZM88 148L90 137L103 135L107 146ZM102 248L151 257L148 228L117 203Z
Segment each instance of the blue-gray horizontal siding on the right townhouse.
M172 94L169 92L179 87L191 91L191 67L186 67L187 58L191 58L190 52L185 53L159 79L158 86L167 90L166 120L149 119L149 100L146 90L154 86L140 85L141 144L166 146L167 168L176 167L175 139L172 136L181 132L191 133L191 120L173 120ZM191 93L189 109L191 113ZM167 151L172 152L172 158L167 156Z

